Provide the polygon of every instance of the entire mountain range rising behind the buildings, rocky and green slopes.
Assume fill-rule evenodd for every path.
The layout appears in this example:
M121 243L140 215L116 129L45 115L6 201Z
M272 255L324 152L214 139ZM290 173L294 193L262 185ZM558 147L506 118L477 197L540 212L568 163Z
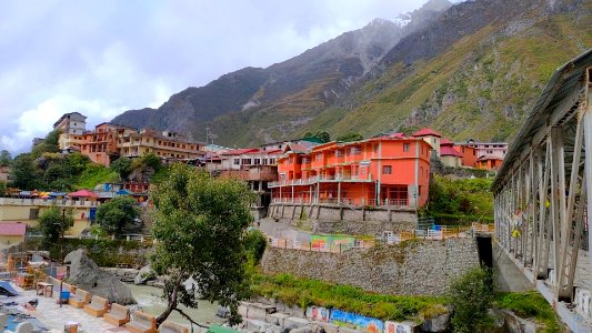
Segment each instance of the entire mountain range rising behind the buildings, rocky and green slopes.
M591 12L584 0L431 0L113 122L193 139L209 127L227 145L423 125L455 140L510 140L553 70L592 47Z

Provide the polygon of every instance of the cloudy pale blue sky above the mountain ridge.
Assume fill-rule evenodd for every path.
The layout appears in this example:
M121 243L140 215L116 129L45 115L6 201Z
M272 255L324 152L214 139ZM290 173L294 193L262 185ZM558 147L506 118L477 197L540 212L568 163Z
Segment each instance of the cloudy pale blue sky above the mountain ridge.
M188 87L288 60L425 0L7 0L0 149L28 151L67 112L87 129Z

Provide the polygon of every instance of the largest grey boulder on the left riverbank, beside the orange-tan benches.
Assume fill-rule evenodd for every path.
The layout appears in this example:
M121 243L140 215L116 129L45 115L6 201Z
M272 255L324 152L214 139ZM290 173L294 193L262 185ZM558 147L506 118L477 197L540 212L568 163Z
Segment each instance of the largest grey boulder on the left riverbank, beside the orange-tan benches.
M91 295L108 299L122 305L136 304L130 289L112 273L101 270L87 254L86 250L68 253L64 263L70 264L68 282L88 291Z

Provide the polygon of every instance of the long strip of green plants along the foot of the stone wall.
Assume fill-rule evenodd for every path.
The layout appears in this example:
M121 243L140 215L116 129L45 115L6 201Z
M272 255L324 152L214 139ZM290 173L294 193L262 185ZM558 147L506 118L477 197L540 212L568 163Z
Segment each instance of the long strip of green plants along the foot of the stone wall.
M257 275L251 293L273 297L290 305L340 309L381 320L417 320L445 313L445 297L393 296L364 292L360 287L299 279L290 274Z

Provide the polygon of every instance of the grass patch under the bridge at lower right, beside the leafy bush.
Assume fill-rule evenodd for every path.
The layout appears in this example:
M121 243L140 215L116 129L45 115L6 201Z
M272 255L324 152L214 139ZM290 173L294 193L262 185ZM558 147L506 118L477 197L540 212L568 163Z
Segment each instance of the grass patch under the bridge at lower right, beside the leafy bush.
M560 332L555 312L540 293L499 293L494 305L510 310L520 317L534 319L541 332Z

